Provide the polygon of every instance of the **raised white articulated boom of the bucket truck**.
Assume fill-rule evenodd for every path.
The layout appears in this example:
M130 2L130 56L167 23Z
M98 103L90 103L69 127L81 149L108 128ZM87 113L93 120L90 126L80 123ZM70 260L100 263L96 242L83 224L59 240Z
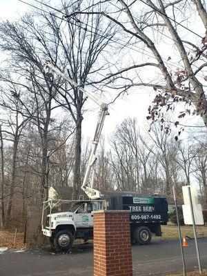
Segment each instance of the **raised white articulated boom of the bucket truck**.
M95 153L97 151L97 145L99 143L99 138L101 136L101 130L103 128L104 120L106 118L106 115L109 115L108 105L107 103L103 103L102 101L99 101L99 99L94 97L94 95L92 95L90 92L80 87L75 81L73 81L69 77L66 77L66 75L64 75L63 72L61 72L58 68L56 68L50 61L46 61L46 63L43 66L43 69L46 75L48 75L49 77L52 77L52 75L56 73L62 79L65 79L70 84L72 84L72 86L75 86L76 88L78 88L78 90L83 92L83 94L86 95L86 97L92 99L92 101L95 101L95 103L97 103L97 105L100 106L99 118L95 129L95 135L92 139L92 147L91 147L90 157L88 161L88 166L86 168L83 184L81 186L81 189L86 193L86 195L88 195L90 199L100 199L101 197L103 197L103 195L101 195L101 192L99 190L95 190L94 188L92 188L93 183L91 184L91 187L89 186L88 179L90 176L92 166L94 166L96 161Z

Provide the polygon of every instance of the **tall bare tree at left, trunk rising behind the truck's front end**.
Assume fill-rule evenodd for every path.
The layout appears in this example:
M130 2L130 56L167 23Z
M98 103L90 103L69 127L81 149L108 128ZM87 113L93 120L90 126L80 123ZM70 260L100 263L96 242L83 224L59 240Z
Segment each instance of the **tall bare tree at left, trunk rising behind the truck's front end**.
M42 23L45 22L43 15ZM59 41L54 33L48 33L48 26L41 29L34 22L34 16L27 14L18 22L3 22L0 32L3 37L1 48L10 54L8 70L10 75L2 74L1 80L12 86L24 115L30 117L37 126L41 137L41 195L48 196L49 153L48 144L53 130L61 127L56 124L53 110L59 108L54 97L60 79L51 81L43 72L47 58L55 63L59 60ZM52 43L53 41L53 43ZM15 88L15 89L14 89ZM21 93L19 95L19 91ZM30 94L28 94L30 93ZM70 128L70 124L68 124ZM72 132L71 132L72 134Z

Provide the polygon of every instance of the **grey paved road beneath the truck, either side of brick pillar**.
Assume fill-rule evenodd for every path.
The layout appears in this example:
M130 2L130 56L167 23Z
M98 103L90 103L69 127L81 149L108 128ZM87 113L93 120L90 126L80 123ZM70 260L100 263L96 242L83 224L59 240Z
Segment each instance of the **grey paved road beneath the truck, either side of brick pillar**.
M188 270L197 267L194 240L184 248ZM199 239L202 265L207 268L207 238ZM182 270L179 244L175 240L132 246L134 275L166 275ZM69 253L55 250L7 250L0 254L1 276L92 275L92 245L74 246Z

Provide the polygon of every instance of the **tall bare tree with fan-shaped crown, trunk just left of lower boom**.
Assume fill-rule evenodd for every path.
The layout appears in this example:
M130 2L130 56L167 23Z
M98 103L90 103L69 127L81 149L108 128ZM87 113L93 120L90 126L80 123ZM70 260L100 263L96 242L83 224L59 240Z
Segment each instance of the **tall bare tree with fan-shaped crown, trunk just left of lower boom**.
M112 26L104 24L101 14L90 15L79 14L76 20L70 19L72 11L80 10L81 1L77 1L70 10L67 3L63 2L62 12L67 17L67 23L63 22L61 26L56 17L48 18L50 28L55 32L59 44L62 48L64 63L67 64L67 73L70 79L73 79L79 86L84 87L92 80L92 74L95 75L104 64L99 65L98 58L106 50L113 33ZM73 10L72 10L73 9ZM52 19L52 20L51 20ZM99 35L102 30L103 35ZM64 68L63 68L64 69ZM75 122L75 160L73 170L73 189L72 197L77 198L79 186L81 183L81 128L83 120L83 105L86 98L83 93L74 86L59 88L59 95L63 106L67 108Z

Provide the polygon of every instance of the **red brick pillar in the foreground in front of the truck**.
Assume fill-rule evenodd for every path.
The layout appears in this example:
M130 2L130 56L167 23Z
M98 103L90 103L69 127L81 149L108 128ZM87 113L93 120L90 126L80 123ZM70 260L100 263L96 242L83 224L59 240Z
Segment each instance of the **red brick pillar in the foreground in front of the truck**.
M128 210L94 213L94 276L132 276Z

